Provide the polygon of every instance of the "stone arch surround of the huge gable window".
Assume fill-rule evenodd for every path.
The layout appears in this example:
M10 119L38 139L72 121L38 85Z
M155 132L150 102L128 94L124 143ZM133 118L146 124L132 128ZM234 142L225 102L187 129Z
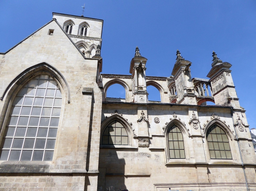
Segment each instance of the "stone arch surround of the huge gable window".
M41 65L41 69L42 69L43 66L49 65L49 64L41 63L41 64L38 64L38 65L32 66L30 68L34 68L34 67L40 66L40 65ZM59 89L61 91L61 98L62 98L61 112L60 112L60 117L59 117L59 124L58 124L58 127L57 127L57 134L56 134L56 139L55 139L55 147L54 147L53 160L52 160L52 161L54 161L54 156L56 155L56 149L55 148L56 148L56 144L58 142L59 127L61 126L61 122L62 122L62 118L63 118L63 112L62 111L63 111L63 108L65 107L65 93L64 92L65 92L66 88L63 88L63 86L62 86L63 84L61 83L60 79L56 75L54 75L52 73L52 71L47 71L46 69L43 69L43 71L40 71L40 69L38 69L38 71L36 71L36 69L34 69L34 70L32 69L32 71L25 73L18 81L16 81L16 83L10 84L10 85L12 85L12 87L9 88L9 91L8 91L8 93L6 95L6 99L5 99L5 103L8 103L8 105L7 105L7 108L3 108L3 110L2 110L2 112L5 112L5 117L4 117L4 120L2 121L2 123L0 121L0 123L1 123L1 126L0 126L1 127L1 129L0 129L0 132L1 132L1 134L0 134L0 144L2 144L2 139L4 138L7 122L9 120L9 117L10 117L9 115L11 113L11 109L12 109L13 102L15 100L16 95L19 93L21 88L26 85L26 83L28 83L30 80L34 79L36 76L41 75L41 74L48 75L59 86ZM24 72L22 72L22 73L24 73ZM19 75L22 75L22 73L19 74ZM18 76L16 76L16 78ZM36 150L36 149L32 149L32 150Z

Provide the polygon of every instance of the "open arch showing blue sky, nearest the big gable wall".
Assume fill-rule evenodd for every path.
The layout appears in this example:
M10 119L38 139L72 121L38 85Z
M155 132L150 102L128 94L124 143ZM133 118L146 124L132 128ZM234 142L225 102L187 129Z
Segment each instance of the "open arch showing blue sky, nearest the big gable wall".
M124 87L118 83L109 86L106 92L106 101L126 102Z

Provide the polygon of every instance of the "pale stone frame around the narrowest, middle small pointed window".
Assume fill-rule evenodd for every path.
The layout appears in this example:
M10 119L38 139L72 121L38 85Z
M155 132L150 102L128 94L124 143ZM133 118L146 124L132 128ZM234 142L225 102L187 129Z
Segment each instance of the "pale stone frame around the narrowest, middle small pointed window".
M184 150L185 150L185 159L170 159L170 153L169 153L169 140L168 140L168 132L170 130L170 128L176 125L183 136L183 143L184 143ZM187 163L188 160L190 159L189 156L189 150L188 150L188 131L186 129L186 127L182 124L182 122L178 119L173 119L171 120L167 125L166 128L164 129L164 137L166 139L166 149L165 149L165 153L166 153L166 164L172 164L172 163Z

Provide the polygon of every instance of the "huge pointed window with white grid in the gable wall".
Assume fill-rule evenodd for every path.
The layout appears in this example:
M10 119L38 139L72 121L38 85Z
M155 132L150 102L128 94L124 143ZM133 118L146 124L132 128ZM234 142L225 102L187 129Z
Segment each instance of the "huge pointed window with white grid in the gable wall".
M16 95L0 147L0 160L52 161L61 91L49 75L26 83Z

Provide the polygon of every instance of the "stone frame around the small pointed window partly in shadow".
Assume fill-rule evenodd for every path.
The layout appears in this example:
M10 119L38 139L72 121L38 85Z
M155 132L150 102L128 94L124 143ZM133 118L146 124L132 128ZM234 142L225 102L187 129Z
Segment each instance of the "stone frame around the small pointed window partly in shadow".
M102 135L103 132L105 131L107 125L111 122L113 122L114 120L117 120L119 123L121 123L123 125L123 127L126 129L126 132L128 134L128 145L102 145ZM131 124L128 123L128 121L126 119L124 119L121 114L115 113L112 114L110 117L107 117L101 124L101 136L100 136L100 146L102 147L129 147L129 146L133 146L132 144L132 139L134 138L134 130L131 126Z

